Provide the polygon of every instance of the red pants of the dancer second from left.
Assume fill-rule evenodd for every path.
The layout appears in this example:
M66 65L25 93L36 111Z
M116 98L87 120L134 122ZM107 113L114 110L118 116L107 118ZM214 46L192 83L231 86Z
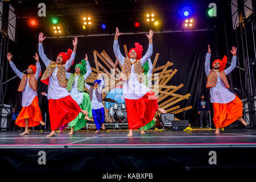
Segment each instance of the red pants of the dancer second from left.
M81 111L79 105L71 96L57 100L49 99L48 107L52 131L59 129L61 125L73 121Z

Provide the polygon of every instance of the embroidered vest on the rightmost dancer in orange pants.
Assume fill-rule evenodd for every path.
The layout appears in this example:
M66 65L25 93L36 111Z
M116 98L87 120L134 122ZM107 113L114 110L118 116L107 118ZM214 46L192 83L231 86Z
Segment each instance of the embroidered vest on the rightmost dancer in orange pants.
M224 84L226 85L226 88L230 88L229 87L229 82L226 78L225 72L224 71L220 71L220 78L221 80L224 82ZM210 87L214 87L217 84L217 80L218 80L218 74L215 71L210 70L210 73L207 77L207 88L209 89Z

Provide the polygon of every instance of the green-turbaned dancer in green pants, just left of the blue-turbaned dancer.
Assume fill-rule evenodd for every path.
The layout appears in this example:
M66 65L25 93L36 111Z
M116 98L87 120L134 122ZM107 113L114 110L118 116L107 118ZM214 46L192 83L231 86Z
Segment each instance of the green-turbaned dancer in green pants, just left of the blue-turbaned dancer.
M71 132L69 135L73 135L74 131L80 130L86 126L86 121L92 117L92 105L90 103L90 96L84 92L85 80L92 73L88 57L85 54L85 60L81 60L81 64L76 64L75 73L66 73L68 79L67 90L70 92L73 100L77 102L81 110L85 110L87 115L79 113L77 117L68 123ZM85 73L86 72L86 73Z

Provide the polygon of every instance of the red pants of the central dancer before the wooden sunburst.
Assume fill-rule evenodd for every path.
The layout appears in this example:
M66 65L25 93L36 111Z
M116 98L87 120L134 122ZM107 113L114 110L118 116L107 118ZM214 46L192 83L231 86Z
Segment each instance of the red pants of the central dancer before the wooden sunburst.
M138 100L125 99L129 130L139 129L151 122L158 110L158 100L154 92L146 93Z

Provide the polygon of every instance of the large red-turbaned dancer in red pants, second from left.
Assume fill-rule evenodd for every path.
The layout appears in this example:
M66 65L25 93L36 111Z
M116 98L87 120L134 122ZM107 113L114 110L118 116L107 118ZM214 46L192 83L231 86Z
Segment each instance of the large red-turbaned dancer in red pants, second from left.
M44 55L43 41L45 38L46 37L43 37L43 33L41 32L38 36L38 50L39 56L47 67L41 81L48 85L48 108L51 133L46 137L52 137L56 135L56 130L59 129L60 126L73 121L80 112L84 114L86 114L86 112L80 109L79 105L72 99L66 89L67 79L65 72L68 71L75 59L77 38L73 40L73 52L71 49L68 49L67 53L59 53L56 61L51 61Z

